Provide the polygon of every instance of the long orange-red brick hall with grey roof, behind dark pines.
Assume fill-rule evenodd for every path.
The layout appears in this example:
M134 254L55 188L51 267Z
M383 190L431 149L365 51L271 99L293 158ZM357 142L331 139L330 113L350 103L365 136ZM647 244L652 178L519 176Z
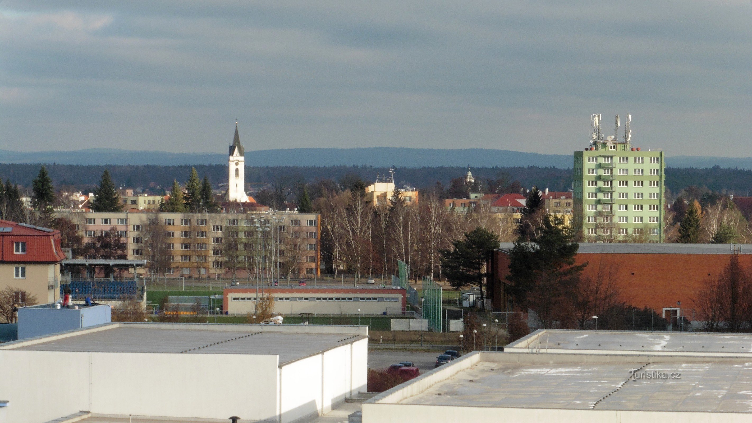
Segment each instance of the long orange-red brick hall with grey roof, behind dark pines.
M505 279L511 247L502 243L493 253L489 297L495 310L511 311ZM575 261L587 262L583 276L616 283L626 304L652 308L664 317L681 308L681 315L693 320L694 298L729 265L734 247L741 249L739 264L752 269L750 244L581 243Z

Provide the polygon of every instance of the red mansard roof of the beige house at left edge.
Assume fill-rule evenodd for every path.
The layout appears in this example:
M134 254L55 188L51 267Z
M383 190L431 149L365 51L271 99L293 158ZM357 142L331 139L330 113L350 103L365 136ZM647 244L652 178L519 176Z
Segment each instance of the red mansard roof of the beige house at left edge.
M0 262L56 263L65 258L60 231L0 220ZM26 243L26 253L17 254L14 243Z

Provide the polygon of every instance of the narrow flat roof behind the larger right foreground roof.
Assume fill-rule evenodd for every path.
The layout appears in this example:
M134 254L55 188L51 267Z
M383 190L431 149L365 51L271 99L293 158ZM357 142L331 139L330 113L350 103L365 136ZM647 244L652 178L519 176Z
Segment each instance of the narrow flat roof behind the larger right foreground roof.
M752 355L752 334L642 331L541 330L521 338L507 348L530 352L596 350L619 352L692 352L724 355ZM566 352L566 351L556 351Z

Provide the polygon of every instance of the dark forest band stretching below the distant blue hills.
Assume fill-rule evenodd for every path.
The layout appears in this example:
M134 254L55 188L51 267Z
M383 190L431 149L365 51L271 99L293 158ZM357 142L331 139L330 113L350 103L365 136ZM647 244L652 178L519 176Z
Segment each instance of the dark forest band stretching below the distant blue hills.
M45 165L53 184L72 186L74 189L93 188L105 169L110 171L116 186L150 189L159 192L169 189L175 178L190 174L191 168L206 175L211 183L223 183L227 179L226 165ZM22 187L29 187L37 177L39 164L0 164L0 177ZM245 171L247 183L272 183L280 177L314 182L316 180L341 180L344 177L359 177L365 181L376 180L377 174L387 174L388 168L372 166L248 166ZM395 180L398 186L408 185L419 189L435 186L436 182L448 186L450 181L467 172L464 166L435 168L398 168ZM472 168L476 180L517 180L526 188L539 186L553 191L566 191L572 183L572 170L536 166L517 168ZM713 168L666 168L666 187L670 193L678 193L687 186L705 186L711 191L725 194L750 195L752 171ZM669 195L669 198L671 195Z

